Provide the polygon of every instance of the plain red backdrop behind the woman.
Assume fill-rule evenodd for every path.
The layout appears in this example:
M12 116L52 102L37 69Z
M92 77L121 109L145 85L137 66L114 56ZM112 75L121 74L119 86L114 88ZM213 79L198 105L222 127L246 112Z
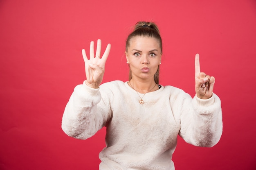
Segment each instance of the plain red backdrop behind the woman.
M160 83L194 96L194 56L216 77L223 135L213 148L178 137L177 170L256 169L255 0L1 0L0 169L97 170L105 129L88 140L61 130L65 105L85 79L81 49L112 44L104 82L128 80L125 40L139 20L163 39Z

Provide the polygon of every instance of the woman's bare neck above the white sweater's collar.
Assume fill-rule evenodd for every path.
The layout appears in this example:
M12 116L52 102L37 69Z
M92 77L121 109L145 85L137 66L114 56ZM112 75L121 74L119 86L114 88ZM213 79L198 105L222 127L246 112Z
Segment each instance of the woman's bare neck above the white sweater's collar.
M131 79L129 81L129 85L141 94L153 92L156 90L156 87L157 87L154 80L153 81L135 81Z

